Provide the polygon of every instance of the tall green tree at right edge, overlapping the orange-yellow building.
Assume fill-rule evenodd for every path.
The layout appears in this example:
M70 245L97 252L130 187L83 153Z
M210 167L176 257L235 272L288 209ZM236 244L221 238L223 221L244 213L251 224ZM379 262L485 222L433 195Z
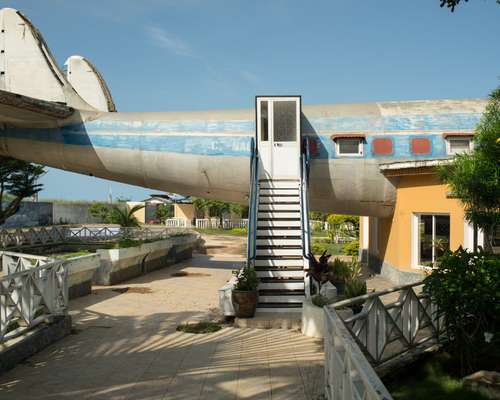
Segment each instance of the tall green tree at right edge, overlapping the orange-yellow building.
M471 153L457 154L451 164L438 168L438 176L460 199L475 231L483 230L485 250L491 251L500 226L500 87L490 95L474 144Z

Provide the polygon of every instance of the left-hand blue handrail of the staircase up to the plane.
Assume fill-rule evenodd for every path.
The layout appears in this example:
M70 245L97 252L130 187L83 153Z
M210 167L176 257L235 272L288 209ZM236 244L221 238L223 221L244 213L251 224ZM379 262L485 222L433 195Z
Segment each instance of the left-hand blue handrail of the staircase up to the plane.
M257 199L259 191L259 153L252 140L252 155L250 158L250 196L248 208L248 245L247 259L253 265L257 254Z

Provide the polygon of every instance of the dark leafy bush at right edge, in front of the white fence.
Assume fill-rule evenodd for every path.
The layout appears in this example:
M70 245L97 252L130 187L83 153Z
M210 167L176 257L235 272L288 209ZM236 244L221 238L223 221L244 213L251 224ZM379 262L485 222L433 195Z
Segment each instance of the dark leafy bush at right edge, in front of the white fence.
M424 283L461 374L474 371L500 344L500 257L460 247L446 252Z

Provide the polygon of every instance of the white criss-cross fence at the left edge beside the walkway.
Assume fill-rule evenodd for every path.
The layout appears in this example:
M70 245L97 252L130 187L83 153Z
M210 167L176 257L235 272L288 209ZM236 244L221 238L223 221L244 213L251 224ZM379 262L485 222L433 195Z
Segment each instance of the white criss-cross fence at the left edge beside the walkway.
M68 276L63 261L1 252L0 343L38 324L64 315L68 306Z

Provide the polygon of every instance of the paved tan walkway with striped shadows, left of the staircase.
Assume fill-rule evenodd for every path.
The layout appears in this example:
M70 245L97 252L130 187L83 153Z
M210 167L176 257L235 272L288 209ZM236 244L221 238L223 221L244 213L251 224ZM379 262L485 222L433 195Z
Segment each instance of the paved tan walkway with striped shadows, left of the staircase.
M0 376L0 399L318 398L321 341L287 330L175 331L216 312L217 289L243 261L241 247L215 247L72 301L74 334Z

